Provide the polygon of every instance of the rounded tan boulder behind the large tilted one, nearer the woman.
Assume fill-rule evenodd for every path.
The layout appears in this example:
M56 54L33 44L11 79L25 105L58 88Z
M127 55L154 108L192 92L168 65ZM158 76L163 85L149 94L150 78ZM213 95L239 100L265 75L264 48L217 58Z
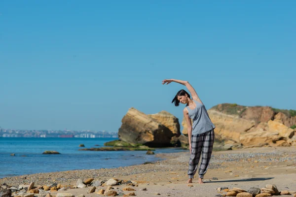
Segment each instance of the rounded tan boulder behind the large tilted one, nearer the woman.
M166 126L177 137L181 135L179 119L173 114L167 111L161 111L156 114L149 114L148 116L155 119L158 123Z

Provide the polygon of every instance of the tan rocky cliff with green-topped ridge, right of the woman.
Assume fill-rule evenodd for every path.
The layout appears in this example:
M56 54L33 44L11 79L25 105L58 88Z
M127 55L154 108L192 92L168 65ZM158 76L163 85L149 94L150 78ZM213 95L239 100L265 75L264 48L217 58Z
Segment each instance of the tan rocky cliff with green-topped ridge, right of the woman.
M248 147L259 144L290 146L294 143L290 138L295 131L289 126L294 125L296 117L291 114L295 112L280 111L285 113L271 107L246 107L226 103L211 108L208 113L216 126L215 133L223 140L231 139Z

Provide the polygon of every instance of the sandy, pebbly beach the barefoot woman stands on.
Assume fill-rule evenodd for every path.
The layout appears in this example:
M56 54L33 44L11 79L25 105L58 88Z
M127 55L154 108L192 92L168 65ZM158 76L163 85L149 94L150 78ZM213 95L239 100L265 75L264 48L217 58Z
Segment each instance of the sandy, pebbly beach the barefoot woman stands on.
M187 184L187 168L189 152L158 154L161 160L153 164L142 164L113 169L73 170L52 173L37 173L23 176L6 177L0 179L0 184L9 186L52 185L54 183L65 186L75 185L78 179L93 178L103 181L111 178L137 182L135 186L126 184L112 186L117 194L129 194L123 191L125 187L133 188L136 196L197 196L215 197L225 195L218 191L219 187L241 188L248 190L251 187L264 188L267 184L275 184L279 191L296 191L296 147L261 147L230 151L213 152L210 167L204 177L205 184L199 185L197 179ZM164 160L163 160L164 159ZM83 162L83 161L82 161ZM94 161L95 162L95 161ZM57 166L58 171L58 166ZM96 191L106 190L108 186L97 186ZM67 193L85 197L102 196L97 193L87 194L91 186L78 189L67 189ZM146 188L146 191L140 189ZM47 192L48 193L48 192ZM50 192L55 196L61 191ZM292 192L293 193L293 192ZM39 197L46 193L36 194ZM292 194L294 195L294 194ZM291 196L291 195L283 195Z

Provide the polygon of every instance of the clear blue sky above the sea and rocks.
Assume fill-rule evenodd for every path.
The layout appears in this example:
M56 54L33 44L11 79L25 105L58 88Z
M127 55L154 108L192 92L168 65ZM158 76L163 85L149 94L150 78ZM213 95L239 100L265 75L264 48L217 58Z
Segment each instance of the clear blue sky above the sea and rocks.
M118 131L188 80L219 103L296 109L296 1L0 1L0 126Z

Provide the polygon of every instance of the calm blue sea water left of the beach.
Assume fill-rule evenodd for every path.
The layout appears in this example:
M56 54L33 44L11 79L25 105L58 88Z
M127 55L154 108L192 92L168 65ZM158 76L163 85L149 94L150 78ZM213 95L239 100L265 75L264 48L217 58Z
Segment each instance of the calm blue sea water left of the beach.
M102 147L118 138L3 138L0 137L0 178L76 169L99 169L143 164L160 160L146 151L78 151ZM84 144L85 147L78 147ZM100 146L95 146L96 144ZM59 155L43 155L46 150ZM183 151L158 148L154 153ZM14 153L15 156L10 156Z

